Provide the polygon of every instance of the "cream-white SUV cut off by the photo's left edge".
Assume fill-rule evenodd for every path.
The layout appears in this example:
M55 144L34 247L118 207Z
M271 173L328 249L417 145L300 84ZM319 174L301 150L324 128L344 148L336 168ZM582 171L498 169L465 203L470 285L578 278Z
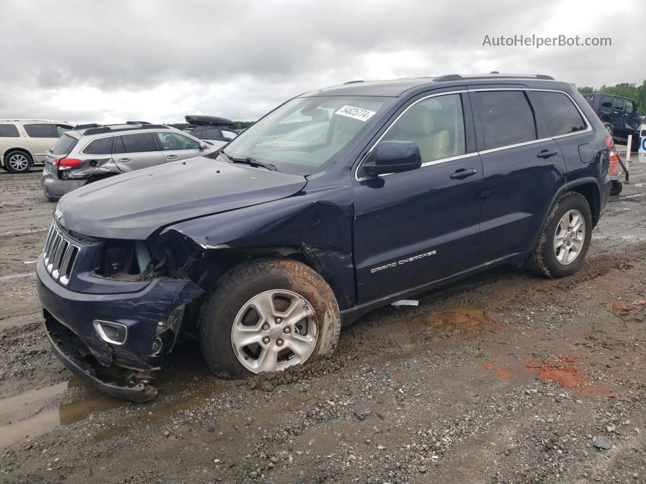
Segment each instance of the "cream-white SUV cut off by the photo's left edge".
M10 173L26 173L70 129L50 119L0 119L0 164Z

